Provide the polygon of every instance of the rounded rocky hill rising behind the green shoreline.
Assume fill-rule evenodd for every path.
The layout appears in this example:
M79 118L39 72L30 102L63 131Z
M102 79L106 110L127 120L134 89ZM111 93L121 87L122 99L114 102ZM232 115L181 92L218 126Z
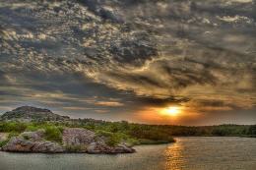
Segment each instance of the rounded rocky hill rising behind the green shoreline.
M52 113L48 109L36 108L32 106L18 107L12 111L4 113L0 120L5 121L65 121L69 120L68 116L60 116Z

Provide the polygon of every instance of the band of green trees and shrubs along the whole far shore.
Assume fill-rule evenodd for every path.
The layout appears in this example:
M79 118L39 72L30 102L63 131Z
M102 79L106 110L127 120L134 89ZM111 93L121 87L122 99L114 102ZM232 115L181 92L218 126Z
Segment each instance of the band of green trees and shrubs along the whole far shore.
M126 142L129 145L158 144L174 142L172 137L256 137L256 125L220 125L205 127L185 127L171 125L144 125L122 122L104 122L92 119L72 120L63 122L0 122L0 132L9 133L9 139L25 131L45 131L45 140L62 142L65 127L85 128L96 132L98 137L106 138L109 145ZM3 144L4 142L1 142ZM78 148L70 148L76 150Z

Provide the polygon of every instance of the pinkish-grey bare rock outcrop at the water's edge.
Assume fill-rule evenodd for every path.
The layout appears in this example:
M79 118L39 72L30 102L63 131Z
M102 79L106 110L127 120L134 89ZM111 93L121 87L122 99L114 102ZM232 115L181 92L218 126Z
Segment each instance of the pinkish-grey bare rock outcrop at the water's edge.
M66 128L63 130L62 143L44 140L43 130L24 132L13 137L3 147L3 151L12 152L85 152L85 153L132 153L135 149L119 143L115 146L107 145L104 137L98 137L92 131L82 128Z

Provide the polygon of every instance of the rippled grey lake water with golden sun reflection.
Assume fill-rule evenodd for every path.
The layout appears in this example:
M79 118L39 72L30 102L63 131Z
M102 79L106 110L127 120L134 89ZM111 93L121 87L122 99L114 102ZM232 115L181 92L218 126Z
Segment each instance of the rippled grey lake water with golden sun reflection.
M118 155L0 152L0 170L255 170L256 139L176 138Z

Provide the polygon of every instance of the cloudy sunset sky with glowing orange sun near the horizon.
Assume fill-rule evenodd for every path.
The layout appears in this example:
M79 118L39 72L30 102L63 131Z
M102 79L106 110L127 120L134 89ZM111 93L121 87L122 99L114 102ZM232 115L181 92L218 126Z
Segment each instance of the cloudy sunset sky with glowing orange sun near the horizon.
M255 0L0 0L0 113L256 124Z

